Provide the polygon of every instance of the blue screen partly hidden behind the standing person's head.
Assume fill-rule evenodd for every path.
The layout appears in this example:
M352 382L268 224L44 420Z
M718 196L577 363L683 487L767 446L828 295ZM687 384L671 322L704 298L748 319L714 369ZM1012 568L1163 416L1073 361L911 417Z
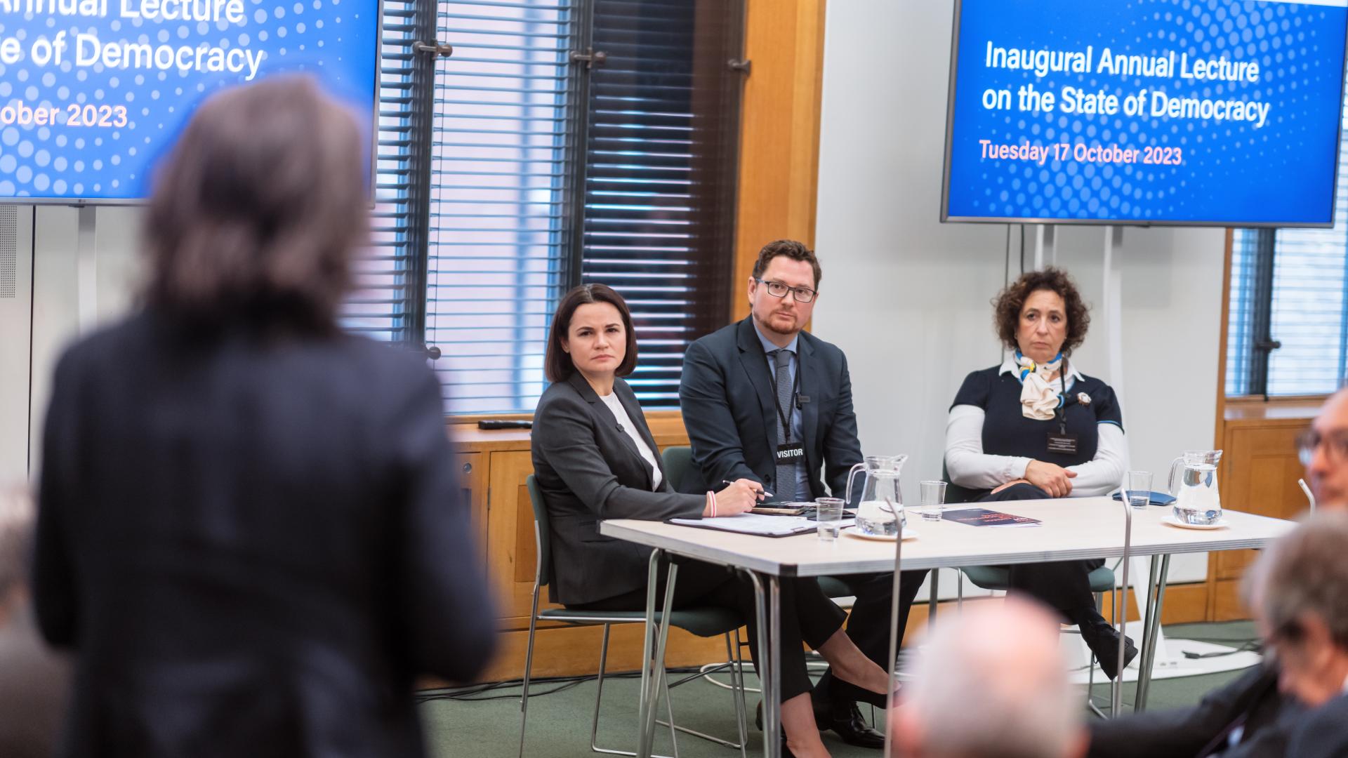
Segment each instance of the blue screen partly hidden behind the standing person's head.
M136 202L197 104L309 73L373 125L379 0L0 0L0 202Z

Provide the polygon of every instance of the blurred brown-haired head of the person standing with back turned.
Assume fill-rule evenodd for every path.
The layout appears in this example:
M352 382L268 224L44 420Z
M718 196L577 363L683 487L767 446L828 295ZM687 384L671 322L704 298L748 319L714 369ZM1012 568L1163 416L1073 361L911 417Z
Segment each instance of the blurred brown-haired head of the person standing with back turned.
M206 100L150 198L147 303L200 326L333 332L367 241L360 135L307 77Z

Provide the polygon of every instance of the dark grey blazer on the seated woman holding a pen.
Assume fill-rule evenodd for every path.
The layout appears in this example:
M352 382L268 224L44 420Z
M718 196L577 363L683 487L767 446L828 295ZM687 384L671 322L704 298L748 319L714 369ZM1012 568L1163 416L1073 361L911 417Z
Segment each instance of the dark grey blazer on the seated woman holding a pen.
M652 452L655 438L627 382L613 392ZM554 603L594 603L646 587L651 549L599 533L607 518L697 518L704 495L651 490L651 467L580 372L549 387L534 411L534 476L551 521Z

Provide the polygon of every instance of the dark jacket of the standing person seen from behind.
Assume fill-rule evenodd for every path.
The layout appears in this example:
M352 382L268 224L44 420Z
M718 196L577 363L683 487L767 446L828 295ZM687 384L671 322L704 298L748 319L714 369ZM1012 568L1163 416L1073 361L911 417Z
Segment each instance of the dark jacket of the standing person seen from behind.
M62 755L417 757L414 674L495 645L423 360L142 313L61 359L34 602Z

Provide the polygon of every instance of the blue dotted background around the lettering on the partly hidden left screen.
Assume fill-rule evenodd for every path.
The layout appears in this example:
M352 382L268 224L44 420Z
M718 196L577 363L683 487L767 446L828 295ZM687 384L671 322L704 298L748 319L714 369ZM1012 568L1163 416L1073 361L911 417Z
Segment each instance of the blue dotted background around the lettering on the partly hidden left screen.
M0 124L0 198L131 201L148 197L155 162L173 147L195 107L210 93L244 84L243 73L75 66L75 32L102 42L146 42L266 51L255 81L305 71L346 103L367 132L377 77L377 0L244 0L243 24L162 22L108 16L0 15L0 39L23 40L24 59L0 63L0 107L54 107L58 125ZM61 65L36 65L30 45L66 30L71 47ZM65 125L70 104L125 105L127 124Z

